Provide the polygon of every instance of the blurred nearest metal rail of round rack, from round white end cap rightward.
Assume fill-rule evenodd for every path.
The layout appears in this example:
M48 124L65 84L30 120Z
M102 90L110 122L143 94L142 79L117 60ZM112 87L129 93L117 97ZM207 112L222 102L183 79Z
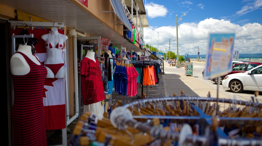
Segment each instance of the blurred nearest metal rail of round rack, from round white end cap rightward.
M208 133L206 133L204 136L196 136L193 134L184 135L178 132L166 131L159 127L156 128L156 127L144 125L144 123L132 119L131 117L127 116L127 114L123 114L124 111L121 111L122 113L119 112L119 110L117 110L118 108L119 107L112 110L111 119L110 119L111 122L113 121L118 124L117 127L115 128L119 128L119 129L122 128L121 130L124 130L123 128L125 127L125 125L129 125L143 132L150 133L152 136L155 136L158 138L166 138L166 139L172 139L174 141L179 141L180 137L183 137L184 138L183 142L198 143L200 145L214 144L214 141L213 141L214 139L212 139L212 137L216 135L214 132L207 131ZM115 115L116 112L119 112L120 114L118 114L117 116L112 116L112 115ZM116 117L116 119L113 119L114 117ZM233 139L233 138L227 138L227 137L217 137L217 138L218 138L217 140L218 145L249 146L249 145L261 145L262 143L262 139L250 139L250 138Z

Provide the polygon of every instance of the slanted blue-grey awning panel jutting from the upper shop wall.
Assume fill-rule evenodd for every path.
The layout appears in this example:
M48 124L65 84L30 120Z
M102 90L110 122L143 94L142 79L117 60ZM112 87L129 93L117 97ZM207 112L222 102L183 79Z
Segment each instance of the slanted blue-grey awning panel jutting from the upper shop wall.
M130 21L127 18L127 15L124 10L123 4L119 0L110 0L110 3L114 9L114 13L122 21L122 23L128 28L129 31L133 34L133 29L130 24Z

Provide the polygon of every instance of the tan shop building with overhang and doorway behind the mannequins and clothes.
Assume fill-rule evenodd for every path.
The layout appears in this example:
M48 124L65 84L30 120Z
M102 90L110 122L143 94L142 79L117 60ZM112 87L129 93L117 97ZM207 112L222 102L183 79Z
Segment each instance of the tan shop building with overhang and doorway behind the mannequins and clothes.
M119 5L121 4L121 5ZM115 47L125 48L129 52L143 51L143 28L148 27L147 12L144 0L57 0L57 1L0 1L1 43L5 49L1 57L4 58L6 79L4 79L4 120L6 128L5 143L12 145L12 121L10 111L13 104L13 84L10 72L10 58L15 52L15 41L22 38L22 30L28 30L25 38L38 40L36 54L42 53L45 57L45 49L39 50L43 44L41 35L48 33L52 27L57 27L59 33L68 36L65 42L66 77L64 82L64 106L65 123L62 123L62 145L66 143L66 126L79 115L79 96L77 59L83 53L81 44L92 46L97 56L101 55L102 40ZM127 32L131 37L126 37ZM25 40L24 38L24 40ZM28 39L27 39L28 40ZM29 39L30 40L30 39ZM77 107L76 107L77 106ZM52 128L52 126L51 126Z

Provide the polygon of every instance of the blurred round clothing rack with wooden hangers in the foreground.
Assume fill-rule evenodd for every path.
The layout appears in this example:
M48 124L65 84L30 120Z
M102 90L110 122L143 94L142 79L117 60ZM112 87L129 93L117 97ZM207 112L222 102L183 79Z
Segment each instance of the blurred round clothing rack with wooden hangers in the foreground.
M252 97L251 97L252 98ZM82 116L80 123L77 124L76 129L74 130L74 134L77 134L75 139L78 140L80 137L89 137L89 135L84 135L85 131L90 129L91 127L96 130L96 133L93 133L94 140L97 140L101 143L105 143L104 145L108 145L109 141L115 146L125 144L133 145L135 141L141 141L139 138L143 135L137 135L137 133L144 133L144 136L147 135L148 137L144 137L143 143L137 145L154 145L154 142L157 142L157 145L170 145L171 141L178 142L178 145L233 145L233 146L248 146L248 145L261 145L262 139L258 136L249 138L249 137L231 137L226 135L221 129L220 125L214 124L214 121L218 121L218 123L227 121L227 122L240 122L242 125L245 123L256 122L257 125L262 122L262 118L249 118L249 117L221 117L221 116L208 116L203 113L202 110L199 109L197 104L199 102L216 102L217 98L208 97L188 97L185 94L181 94L181 96L175 97L157 97L157 98L143 98L141 100L135 100L133 102L127 104L119 104L119 106L115 107L112 112L110 113L110 119L104 118L99 120L97 124L92 123L92 117L94 119L94 115L92 114L85 114ZM240 105L246 106L250 108L258 108L260 112L262 108L262 104L254 101L242 101L242 100L232 100L232 99L222 99L219 98L218 100L221 103L229 103L232 105ZM150 115L148 112L147 115L144 114L146 111L146 106L149 104L163 104L165 109L168 111L168 108L165 108L167 102L171 102L170 105L173 105L174 102L187 102L190 104L190 108L196 109L196 116L170 116L170 115ZM181 105L182 106L182 105ZM161 108L151 107L151 110L162 110ZM135 111L137 110L140 114L143 113L144 115L135 115ZM143 111L143 112L142 112ZM160 111L161 112L161 111ZM137 113L136 113L137 114ZM91 117L91 119L90 119ZM160 121L162 120L175 120L175 122L181 122L182 127L180 131L171 130L169 128L162 127L160 125ZM193 134L191 126L188 124L194 121L198 121L200 124L200 129L203 129L203 133L200 134ZM85 122L85 123L83 123ZM243 123L244 122L244 123ZM237 123L238 124L238 123ZM84 125L84 126L83 126ZM80 126L80 127L79 127ZM108 129L110 127L110 130ZM112 129L114 127L115 129ZM215 129L214 129L215 128ZM248 127L249 128L249 127ZM112 130L112 131L111 131ZM80 132L83 131L83 132ZM104 133L101 134L101 131ZM137 131L137 132L136 132ZM76 133L78 132L78 133ZM126 133L124 133L126 132ZM145 134L146 133L146 134ZM107 135L109 138L114 137L113 139L106 139L102 138ZM96 135L96 137L94 137ZM100 137L101 136L101 137ZM260 135L261 136L261 135ZM111 138L112 138L111 137ZM128 139L126 139L129 137ZM131 141L130 141L131 139ZM107 141L108 140L108 141ZM122 143L118 142L122 141ZM77 143L77 141L75 141ZM81 141L84 142L84 141ZM88 142L88 139L85 141ZM115 143L114 143L115 142ZM153 144L152 144L153 143Z

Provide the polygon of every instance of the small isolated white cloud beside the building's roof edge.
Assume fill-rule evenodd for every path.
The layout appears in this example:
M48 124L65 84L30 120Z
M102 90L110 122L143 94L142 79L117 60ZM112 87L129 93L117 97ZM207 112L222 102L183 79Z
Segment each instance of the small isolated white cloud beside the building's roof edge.
M146 4L146 8L148 10L149 18L164 17L168 12L164 5L159 5L152 2Z

